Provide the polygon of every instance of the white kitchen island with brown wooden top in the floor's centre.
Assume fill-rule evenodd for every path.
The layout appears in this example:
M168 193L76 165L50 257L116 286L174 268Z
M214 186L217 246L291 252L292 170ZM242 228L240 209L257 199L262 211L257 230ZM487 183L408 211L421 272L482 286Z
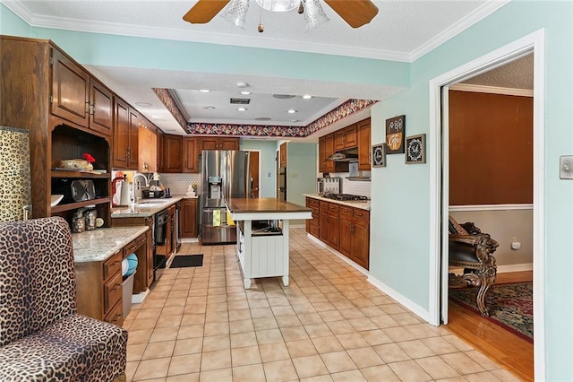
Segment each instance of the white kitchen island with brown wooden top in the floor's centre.
M288 286L289 221L312 219L312 209L275 198L228 199L227 209L236 221L244 288L251 288L252 278L275 276Z

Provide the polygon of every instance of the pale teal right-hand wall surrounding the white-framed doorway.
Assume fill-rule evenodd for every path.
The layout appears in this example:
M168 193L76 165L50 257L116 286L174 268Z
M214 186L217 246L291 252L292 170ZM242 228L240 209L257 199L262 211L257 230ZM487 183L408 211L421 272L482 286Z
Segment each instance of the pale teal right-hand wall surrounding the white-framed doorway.
M546 379L573 380L573 181L560 180L559 156L573 153L573 3L512 1L482 22L416 60L407 91L372 108L372 143L383 142L384 120L406 114L406 135L434 132L429 81L460 65L545 29L544 266ZM372 170L372 276L421 308L429 307L430 169L389 155ZM495 185L492 185L495 187Z

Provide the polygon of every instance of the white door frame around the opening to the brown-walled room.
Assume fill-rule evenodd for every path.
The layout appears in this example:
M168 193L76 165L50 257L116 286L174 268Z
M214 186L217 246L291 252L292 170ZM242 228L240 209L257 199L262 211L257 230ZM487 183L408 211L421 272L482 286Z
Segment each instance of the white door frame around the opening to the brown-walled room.
M521 39L496 49L491 53L458 66L448 73L433 78L429 83L430 90L430 135L428 153L430 162L430 285L429 285L429 318L430 323L440 325L440 287L441 280L448 275L448 252L442 246L448 242L447 219L449 214L449 159L448 136L442 135L442 116L440 90L442 87L482 74L495 67L534 52L534 365L535 380L545 379L545 319L544 319L544 82L545 82L545 30L537 30ZM447 128L448 124L444 125ZM445 135L445 137L444 137ZM443 142L442 142L443 141ZM443 173L442 173L443 171ZM442 192L445 193L442 195ZM441 267L441 264L446 266ZM447 312L447 307L445 308Z

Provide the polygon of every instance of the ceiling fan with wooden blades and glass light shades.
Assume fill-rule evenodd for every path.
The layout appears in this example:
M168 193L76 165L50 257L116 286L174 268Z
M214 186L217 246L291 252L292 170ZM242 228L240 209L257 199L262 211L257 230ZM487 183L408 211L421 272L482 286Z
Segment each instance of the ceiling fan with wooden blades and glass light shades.
M234 0L236 2L236 0ZM244 0L245 1L245 0ZM248 0L246 0L248 2ZM271 9L272 0L256 0L262 8L273 12L288 11L293 9ZM210 22L231 0L199 0L185 13L183 19L192 24L204 24ZM277 3L281 3L278 2ZM317 0L290 0L287 3L298 4L298 13L304 13L305 4L309 7L318 4ZM313 4L312 4L313 3ZM360 28L372 21L378 13L378 7L370 0L324 0L330 8L352 28ZM248 5L247 5L248 6ZM319 4L320 6L320 4ZM328 20L328 19L327 19ZM261 27L261 25L260 25ZM261 28L259 31L262 31Z

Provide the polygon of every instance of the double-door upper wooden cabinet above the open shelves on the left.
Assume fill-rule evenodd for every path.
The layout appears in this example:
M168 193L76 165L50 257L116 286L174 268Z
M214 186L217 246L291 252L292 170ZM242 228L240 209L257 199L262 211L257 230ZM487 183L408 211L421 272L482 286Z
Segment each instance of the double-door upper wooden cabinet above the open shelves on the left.
M52 114L112 134L113 93L68 56L52 48Z

